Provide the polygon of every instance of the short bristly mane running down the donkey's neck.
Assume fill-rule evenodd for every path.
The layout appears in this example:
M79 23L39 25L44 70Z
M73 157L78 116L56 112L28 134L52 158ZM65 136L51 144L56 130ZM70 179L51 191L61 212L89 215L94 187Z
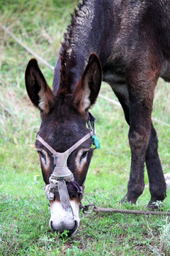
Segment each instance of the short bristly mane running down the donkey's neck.
M79 53L80 55L76 56L75 51L77 44L81 44L81 38L79 38L79 35L87 33L86 28L84 28L84 23L86 24L87 28L91 26L91 20L94 16L91 6L94 6L94 0L81 1L78 4L77 9L74 9L74 14L71 14L72 21L70 25L67 26L67 32L64 33L62 52L60 53L60 90L58 91L60 92L60 96L62 98L72 93L73 88L70 85L74 85L74 76L77 69L77 58L81 58L81 53ZM79 66L83 72L84 63L79 62Z

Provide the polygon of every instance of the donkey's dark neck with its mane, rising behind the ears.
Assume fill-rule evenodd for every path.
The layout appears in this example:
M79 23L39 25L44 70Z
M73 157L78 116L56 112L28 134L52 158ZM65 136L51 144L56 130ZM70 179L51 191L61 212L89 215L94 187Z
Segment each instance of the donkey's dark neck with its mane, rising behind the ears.
M85 0L83 4L79 4L72 16L72 22L67 28L67 33L64 34L64 42L55 65L52 84L55 94L63 86L62 84L64 87L69 86L70 93L74 91L91 53L96 53L99 58L105 55L101 38L106 28L106 21L100 2L101 0ZM100 21L96 15L100 16Z

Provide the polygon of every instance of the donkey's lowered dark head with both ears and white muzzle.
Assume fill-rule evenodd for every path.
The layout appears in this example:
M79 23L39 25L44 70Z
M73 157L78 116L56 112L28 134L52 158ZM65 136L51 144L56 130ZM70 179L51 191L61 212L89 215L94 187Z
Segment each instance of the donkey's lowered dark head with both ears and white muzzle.
M42 120L35 146L50 200L50 228L60 233L73 235L79 228L79 203L94 151L93 131L86 123L93 119L89 107L98 96L101 76L101 63L91 54L74 89L67 92L62 86L54 95L35 59L26 68L28 96Z

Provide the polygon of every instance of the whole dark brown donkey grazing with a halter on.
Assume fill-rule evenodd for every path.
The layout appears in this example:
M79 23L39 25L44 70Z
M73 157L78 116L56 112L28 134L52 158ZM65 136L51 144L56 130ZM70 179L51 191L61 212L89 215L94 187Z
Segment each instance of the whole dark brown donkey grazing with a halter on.
M73 235L79 228L79 203L94 152L94 117L89 109L102 80L111 85L130 127L130 178L122 202L136 203L142 194L145 164L148 207L164 200L166 183L151 117L159 77L170 82L166 0L82 1L64 34L52 90L37 61L29 61L26 89L42 120L35 146L50 200L51 230Z

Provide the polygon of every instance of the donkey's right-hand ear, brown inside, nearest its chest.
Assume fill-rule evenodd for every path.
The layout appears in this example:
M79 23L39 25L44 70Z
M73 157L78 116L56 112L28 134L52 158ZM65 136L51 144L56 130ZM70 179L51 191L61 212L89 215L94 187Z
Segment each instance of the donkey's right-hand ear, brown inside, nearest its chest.
M98 56L92 53L82 78L74 91L74 107L79 112L85 112L96 102L98 92L101 88L101 80L101 62Z

